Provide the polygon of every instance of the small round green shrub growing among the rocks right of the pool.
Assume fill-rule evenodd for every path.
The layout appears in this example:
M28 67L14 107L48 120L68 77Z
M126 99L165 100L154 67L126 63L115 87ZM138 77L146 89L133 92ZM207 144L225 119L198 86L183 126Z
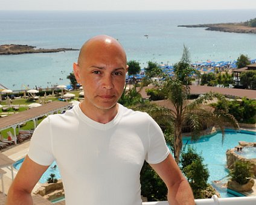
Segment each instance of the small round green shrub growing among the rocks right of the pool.
M236 181L238 184L246 184L248 182L248 178L252 176L250 163L241 161L235 162L235 167L229 175L231 175L231 179Z

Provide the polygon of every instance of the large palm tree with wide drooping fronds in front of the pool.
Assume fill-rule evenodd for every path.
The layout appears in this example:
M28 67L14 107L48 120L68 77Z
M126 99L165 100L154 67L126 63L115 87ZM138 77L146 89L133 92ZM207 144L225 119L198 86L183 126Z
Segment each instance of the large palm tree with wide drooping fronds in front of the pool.
M194 101L188 99L189 89L179 80L168 79L165 81L163 89L167 90L167 98L170 100L173 108L167 109L161 106L140 105L133 107L135 110L141 110L149 113L152 118L160 125L165 127L173 134L174 159L179 163L179 156L182 149L182 128L189 127L192 140L197 140L202 135L205 127L214 125L222 131L222 142L225 136L225 127L238 128L238 122L234 116L228 113L228 109L203 109L206 101L219 99L225 102L225 97L220 93L205 93ZM224 103L225 105L225 103Z

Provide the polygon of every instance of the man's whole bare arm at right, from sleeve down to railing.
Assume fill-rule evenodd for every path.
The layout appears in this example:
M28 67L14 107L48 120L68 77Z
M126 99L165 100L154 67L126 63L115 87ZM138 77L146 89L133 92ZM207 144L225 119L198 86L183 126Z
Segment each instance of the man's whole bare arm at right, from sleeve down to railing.
M163 162L150 164L150 166L152 166L166 184L168 188L168 202L171 205L194 204L194 197L190 184L188 184L188 181L182 175L179 166L171 154L169 154Z

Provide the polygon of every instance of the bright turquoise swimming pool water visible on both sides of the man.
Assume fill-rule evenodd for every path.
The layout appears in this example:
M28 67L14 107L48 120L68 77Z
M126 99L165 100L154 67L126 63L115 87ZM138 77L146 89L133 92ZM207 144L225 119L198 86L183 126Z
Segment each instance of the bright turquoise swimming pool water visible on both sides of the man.
M210 177L208 183L213 183L213 181L223 180L228 175L228 169L226 169L226 150L234 148L238 145L239 141L255 142L256 133L252 131L234 131L226 130L225 139L222 144L222 133L216 133L211 136L203 136L196 142L192 142L189 138L184 139L183 143L186 144L188 140L188 145L196 148L198 153L202 153L204 163L207 165ZM19 169L21 167L23 160L19 160L14 163L14 168ZM61 178L58 167L53 169L56 165L54 162L40 178L40 183L45 183L50 174L55 174L56 178ZM215 187L215 186L214 186ZM215 187L216 188L216 187ZM220 192L221 197L234 197L234 195L228 194L226 189L217 189Z

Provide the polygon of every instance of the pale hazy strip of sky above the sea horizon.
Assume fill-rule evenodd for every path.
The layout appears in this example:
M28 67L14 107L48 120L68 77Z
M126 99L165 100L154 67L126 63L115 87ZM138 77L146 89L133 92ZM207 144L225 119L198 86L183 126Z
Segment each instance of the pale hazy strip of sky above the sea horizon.
M255 0L1 0L0 10L256 9Z

